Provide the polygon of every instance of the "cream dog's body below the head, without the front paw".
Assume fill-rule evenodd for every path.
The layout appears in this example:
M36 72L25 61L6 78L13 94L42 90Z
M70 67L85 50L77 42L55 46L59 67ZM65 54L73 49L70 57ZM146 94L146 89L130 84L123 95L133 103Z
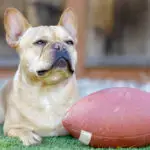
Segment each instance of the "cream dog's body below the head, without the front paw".
M7 108L4 132L7 134L15 127L29 129L40 136L65 135L61 121L78 99L75 77L57 88L43 88L28 84L20 76L18 71L2 93L1 100L7 100L2 102Z

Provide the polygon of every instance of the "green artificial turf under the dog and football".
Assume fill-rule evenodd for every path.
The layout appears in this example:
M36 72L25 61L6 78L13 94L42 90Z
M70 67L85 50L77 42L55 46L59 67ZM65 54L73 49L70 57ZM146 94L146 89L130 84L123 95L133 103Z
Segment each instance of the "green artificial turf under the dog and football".
M81 144L78 140L71 136L66 137L47 137L43 138L39 146L22 146L22 143L15 138L4 137L2 126L0 126L0 150L95 150L89 146ZM119 150L137 150L137 148L117 148ZM113 150L97 148L96 150ZM140 148L139 150L150 150L150 147Z

